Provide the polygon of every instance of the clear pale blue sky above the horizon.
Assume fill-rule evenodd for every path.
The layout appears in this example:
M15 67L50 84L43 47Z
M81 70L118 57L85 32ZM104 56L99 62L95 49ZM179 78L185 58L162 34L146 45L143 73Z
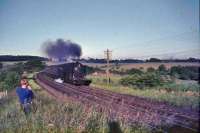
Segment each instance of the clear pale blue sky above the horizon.
M200 58L199 0L0 0L0 55L58 38L84 58Z

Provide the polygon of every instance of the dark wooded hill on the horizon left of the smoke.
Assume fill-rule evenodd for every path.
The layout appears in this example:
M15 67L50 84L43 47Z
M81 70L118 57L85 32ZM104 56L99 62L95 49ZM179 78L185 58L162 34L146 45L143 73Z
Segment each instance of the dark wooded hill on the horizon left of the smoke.
M0 55L0 61L28 61L28 60L41 60L45 61L47 58L31 55Z

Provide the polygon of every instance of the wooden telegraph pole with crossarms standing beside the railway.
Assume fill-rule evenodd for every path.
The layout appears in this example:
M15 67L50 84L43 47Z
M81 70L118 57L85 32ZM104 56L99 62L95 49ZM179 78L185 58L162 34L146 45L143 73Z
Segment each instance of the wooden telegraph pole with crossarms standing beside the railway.
M111 55L112 55L112 51L110 51L109 49L107 49L106 51L104 51L105 54L105 58L107 60L107 68L106 68L106 78L107 78L107 84L110 83L110 72L109 72L109 66L110 66L110 59L111 59Z

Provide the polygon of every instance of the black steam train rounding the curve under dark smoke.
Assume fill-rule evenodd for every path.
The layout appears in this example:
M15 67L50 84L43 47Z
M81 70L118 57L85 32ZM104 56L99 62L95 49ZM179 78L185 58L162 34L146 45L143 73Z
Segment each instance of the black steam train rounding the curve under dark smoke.
M79 62L49 66L44 72L53 79L60 78L73 85L89 85L91 83L91 80L85 78L86 66Z

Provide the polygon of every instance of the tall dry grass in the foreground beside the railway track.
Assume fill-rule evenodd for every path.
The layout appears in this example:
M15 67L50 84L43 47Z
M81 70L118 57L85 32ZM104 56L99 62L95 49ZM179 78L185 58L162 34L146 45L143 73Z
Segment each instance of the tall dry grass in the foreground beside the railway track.
M25 116L16 96L4 99L0 111L1 133L110 133L150 132L142 126L129 125L120 118L109 119L105 112L98 112L95 106L84 106L78 102L61 102L30 81L36 98L36 112ZM10 101L9 104L7 104ZM113 129L113 123L114 129Z

